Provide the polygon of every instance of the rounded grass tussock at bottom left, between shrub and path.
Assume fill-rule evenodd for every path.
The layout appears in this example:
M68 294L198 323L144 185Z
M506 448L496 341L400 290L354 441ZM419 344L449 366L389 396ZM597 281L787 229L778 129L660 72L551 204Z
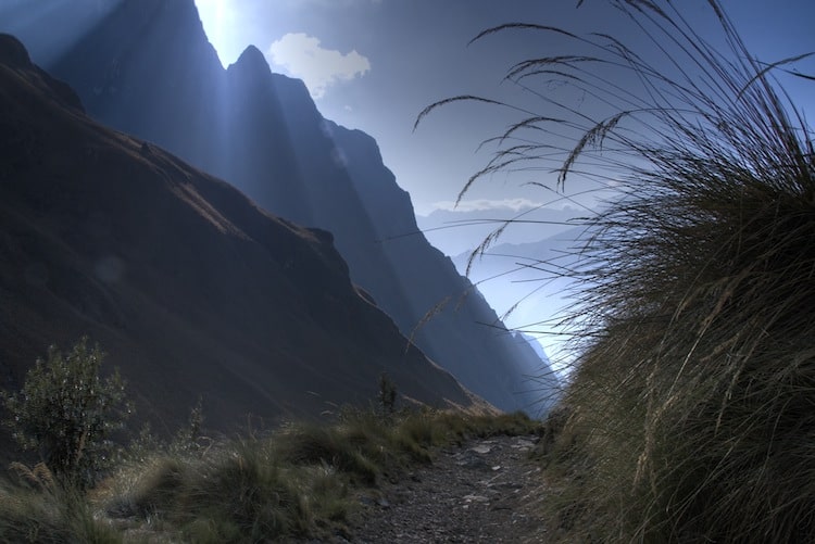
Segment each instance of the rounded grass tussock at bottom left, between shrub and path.
M121 517L162 520L191 542L258 542L311 529L300 475L266 443L237 441L200 458L158 455L140 467L112 507Z

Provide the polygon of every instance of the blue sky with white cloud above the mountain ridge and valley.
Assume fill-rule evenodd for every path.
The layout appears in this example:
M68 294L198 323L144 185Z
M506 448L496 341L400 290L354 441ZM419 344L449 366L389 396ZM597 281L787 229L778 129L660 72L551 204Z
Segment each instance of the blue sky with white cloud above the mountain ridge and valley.
M204 29L222 64L235 62L250 43L264 52L272 69L302 78L322 114L376 138L385 164L411 194L419 226L439 228L427 238L449 255L475 248L492 225L472 225L469 218L509 218L541 206L527 218L562 222L586 215L605 190L588 179L567 184L568 198L557 194L555 175L534 169L481 178L454 207L469 176L486 165L493 148L479 144L525 117L509 109L479 103L453 103L434 111L416 130L414 122L427 105L459 94L477 94L523 105L544 114L539 96L502 81L516 62L572 53L564 40L547 33L511 31L469 43L479 31L504 23L552 25L586 34L606 31L638 47L638 34L604 0L196 0ZM815 2L812 0L723 0L725 10L748 48L760 60L775 62L815 51ZM717 26L704 0L676 2L682 15L715 41ZM705 34L707 33L707 34ZM570 43L570 42L569 42ZM652 45L645 45L644 53ZM790 66L792 67L792 66ZM794 65L815 74L815 60ZM815 83L779 75L798 107L815 118ZM561 92L578 111L584 98L551 86L540 93ZM588 106L586 106L588 107ZM553 166L555 166L553 164ZM548 186L529 186L529 182ZM594 184L594 185L592 185ZM437 211L435 214L434 211ZM454 223L451 223L454 222ZM464 222L464 225L459 222ZM559 236L557 225L516 226L506 242L529 242ZM452 233L453 231L454 233ZM457 235L457 236L456 236ZM515 260L510 260L512 268ZM528 275L527 275L528 276ZM498 311L517 302L523 280L512 276L480 286ZM540 286L530 284L529 290ZM549 289L549 291L548 291ZM546 329L535 325L552 319L562 307L562 283L543 286L522 303L505 322L510 327ZM544 303L541 304L541 299ZM553 301L549 306L546 301ZM556 306L554 305L556 304ZM538 334L554 357L565 337ZM566 355L567 356L567 355Z

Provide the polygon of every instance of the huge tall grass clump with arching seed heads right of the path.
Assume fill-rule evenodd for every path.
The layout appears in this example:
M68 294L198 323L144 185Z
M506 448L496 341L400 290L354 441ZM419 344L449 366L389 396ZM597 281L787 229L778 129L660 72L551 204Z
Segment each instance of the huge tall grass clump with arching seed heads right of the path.
M595 542L813 542L815 152L775 79L806 54L760 62L716 0L711 39L678 2L610 3L636 34L477 37L555 34L579 53L510 69L556 112L514 123L464 190L554 150L560 189L592 176L617 191L569 273L585 289L551 448L561 523ZM550 83L598 107L538 90Z

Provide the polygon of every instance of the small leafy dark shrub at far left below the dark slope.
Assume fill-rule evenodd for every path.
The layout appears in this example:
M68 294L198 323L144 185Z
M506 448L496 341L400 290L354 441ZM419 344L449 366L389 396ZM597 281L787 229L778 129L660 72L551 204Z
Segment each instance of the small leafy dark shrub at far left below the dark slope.
M52 346L20 392L0 393L11 415L4 423L20 445L37 451L58 479L79 485L106 466L110 435L130 413L118 371L100 377L103 359L98 345L88 347L87 338L66 355Z

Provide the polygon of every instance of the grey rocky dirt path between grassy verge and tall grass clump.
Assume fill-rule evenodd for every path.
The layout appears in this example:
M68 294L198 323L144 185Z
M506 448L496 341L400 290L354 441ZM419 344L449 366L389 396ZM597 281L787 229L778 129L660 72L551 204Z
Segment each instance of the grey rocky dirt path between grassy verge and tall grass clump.
M362 497L350 542L547 542L546 491L528 458L534 440L494 437L439 452L380 496Z

